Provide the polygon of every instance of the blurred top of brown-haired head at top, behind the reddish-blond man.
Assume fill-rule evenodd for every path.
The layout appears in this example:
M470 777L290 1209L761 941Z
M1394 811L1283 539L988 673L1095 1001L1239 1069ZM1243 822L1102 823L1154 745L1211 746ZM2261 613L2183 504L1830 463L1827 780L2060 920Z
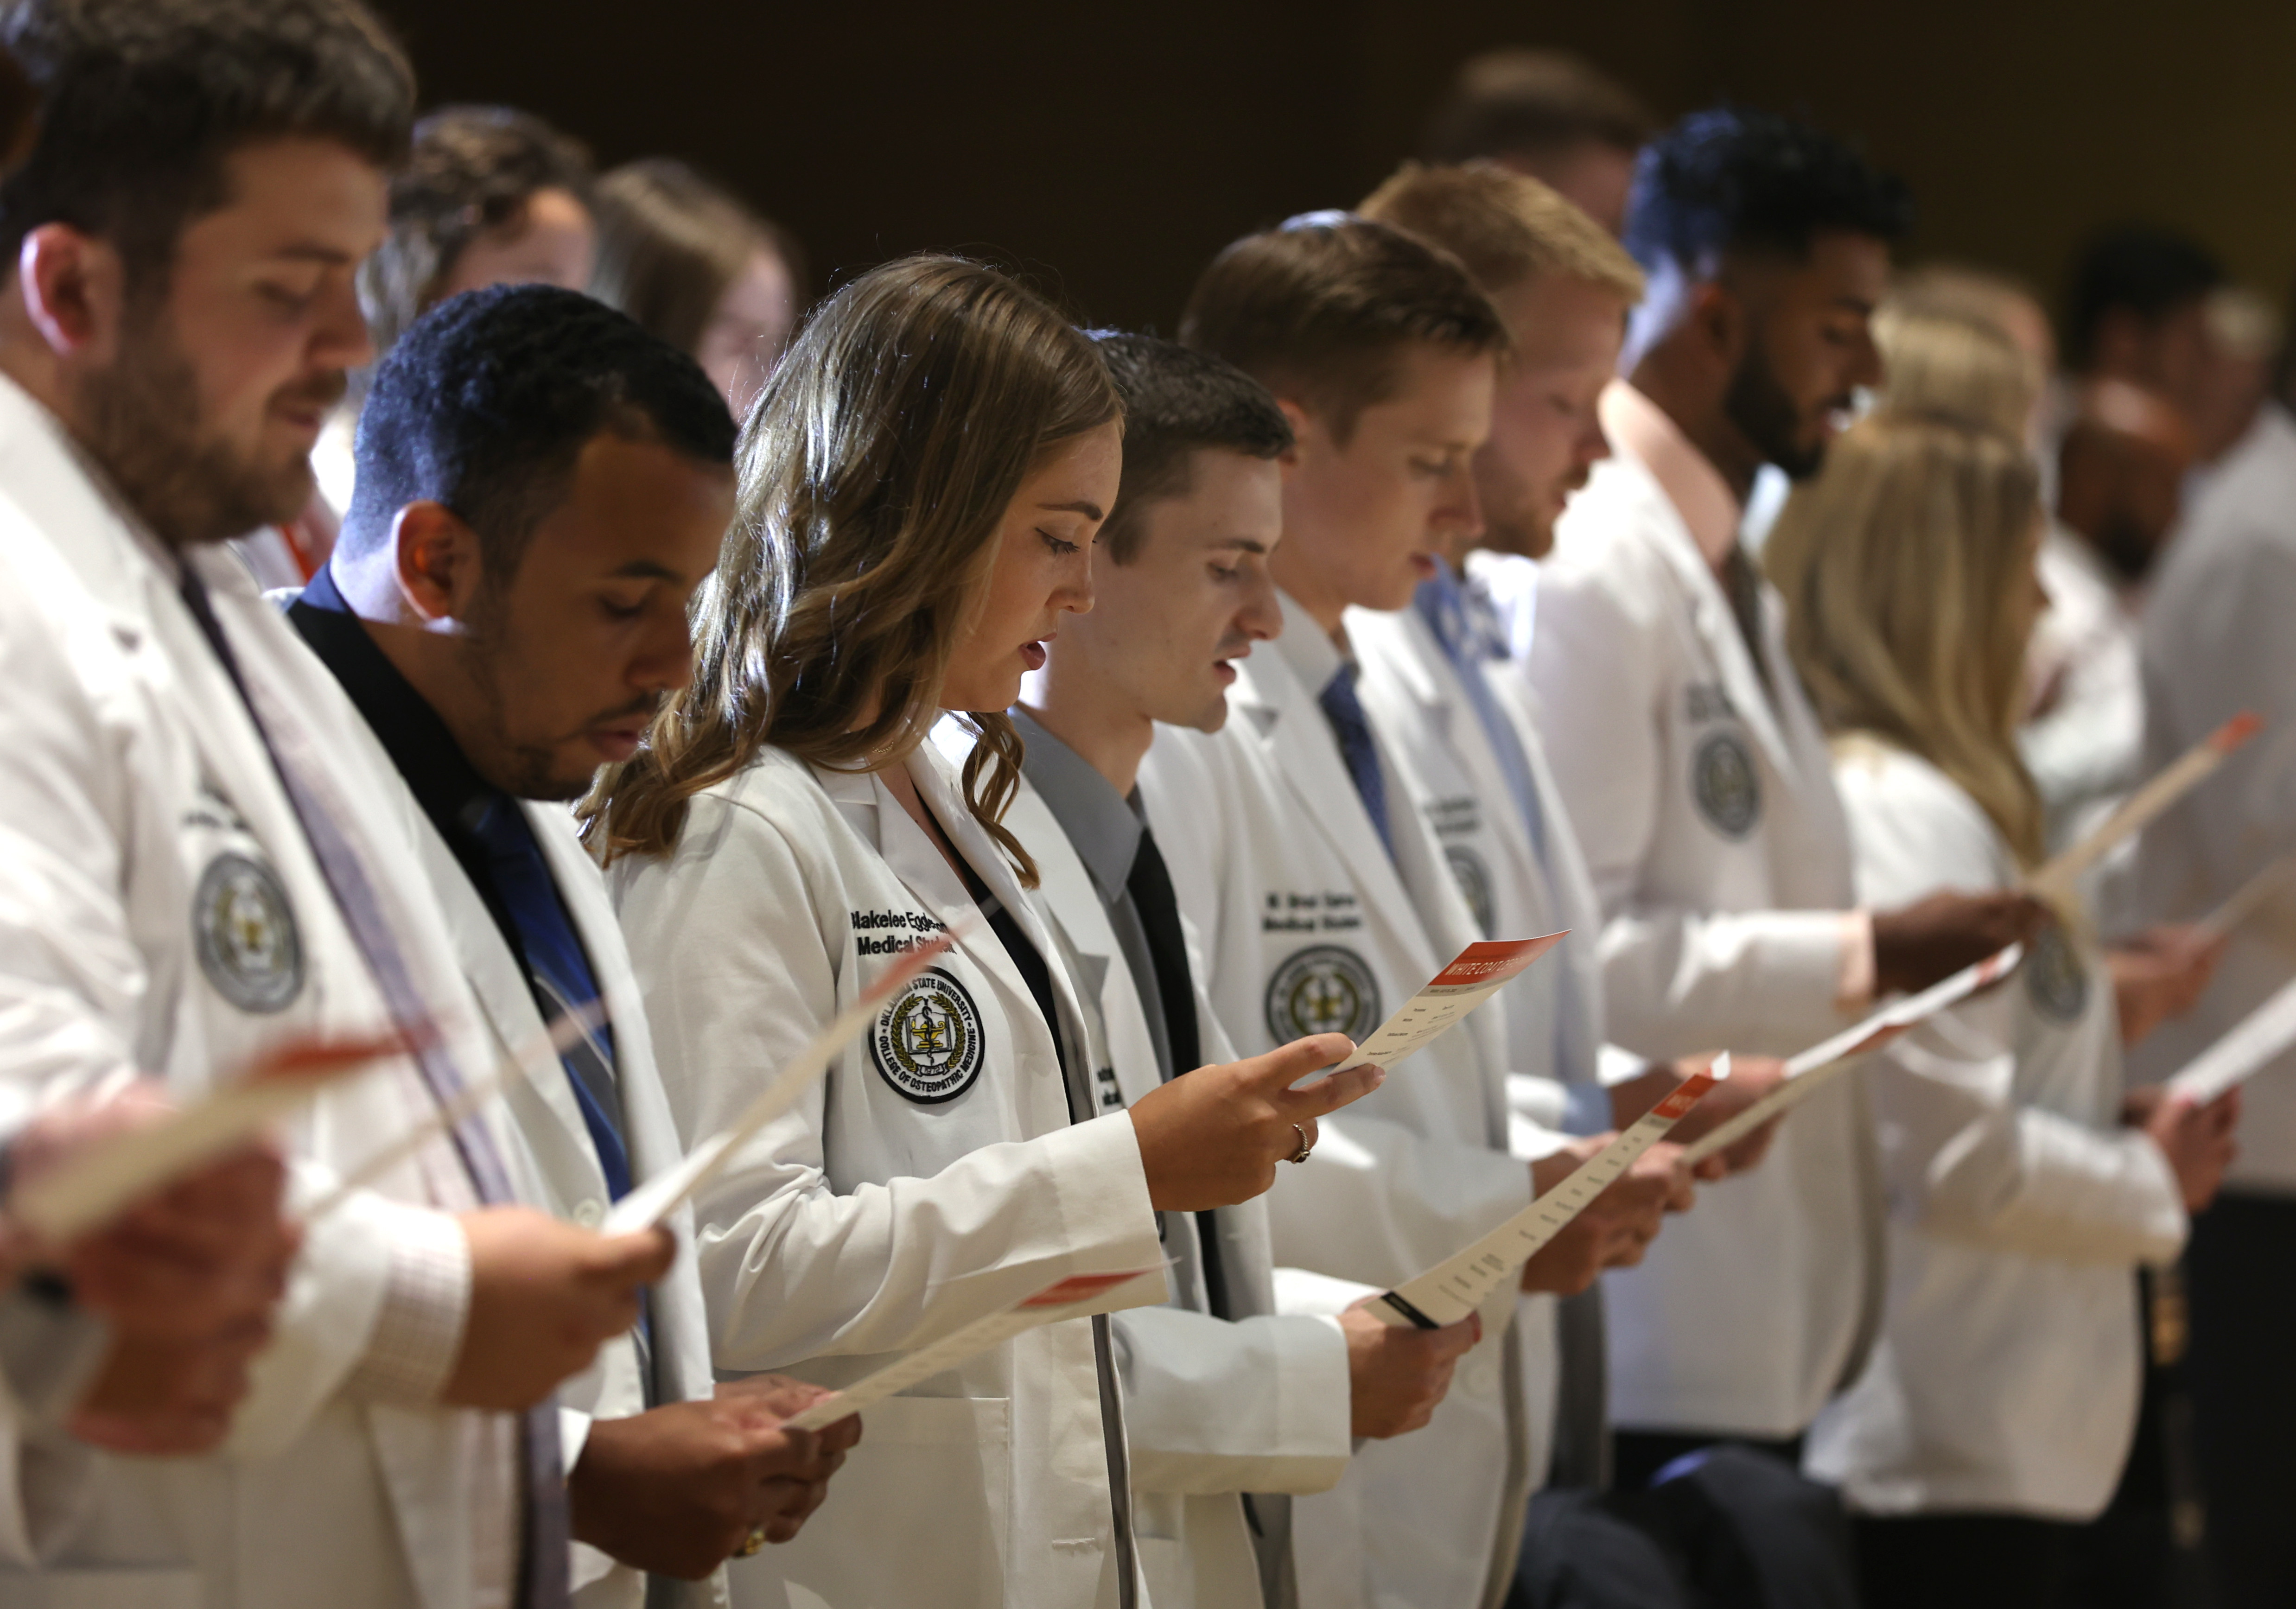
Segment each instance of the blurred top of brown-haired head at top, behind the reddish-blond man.
M1632 90L1566 50L1486 50L1460 64L1419 140L1426 161L1492 161L1552 186L1612 234L1635 151L1658 131Z

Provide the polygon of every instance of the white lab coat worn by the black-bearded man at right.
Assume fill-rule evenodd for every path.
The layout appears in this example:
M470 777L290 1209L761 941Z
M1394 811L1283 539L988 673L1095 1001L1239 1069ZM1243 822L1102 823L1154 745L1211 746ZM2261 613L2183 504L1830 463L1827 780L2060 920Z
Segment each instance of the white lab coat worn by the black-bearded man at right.
M1722 583L1621 452L1564 512L1527 675L1603 902L1609 1037L1642 1056L1793 1054L1839 1031L1853 904L1825 737L1763 588L1763 686ZM1603 1281L1609 1405L1637 1430L1800 1435L1878 1317L1878 1196L1855 1079L1752 1173Z

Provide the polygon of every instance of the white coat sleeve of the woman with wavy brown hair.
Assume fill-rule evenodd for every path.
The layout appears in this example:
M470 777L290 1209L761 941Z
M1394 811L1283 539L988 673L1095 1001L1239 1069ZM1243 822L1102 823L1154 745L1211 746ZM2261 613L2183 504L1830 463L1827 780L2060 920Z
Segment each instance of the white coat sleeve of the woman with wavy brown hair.
M675 856L620 881L680 1136L728 1127L840 1008L840 891L785 833L693 801ZM859 1051L847 1051L859 1054ZM815 1083L696 1200L712 1359L765 1370L918 1347L1056 1278L1162 1262L1130 1113L985 1145L932 1177L831 1184Z

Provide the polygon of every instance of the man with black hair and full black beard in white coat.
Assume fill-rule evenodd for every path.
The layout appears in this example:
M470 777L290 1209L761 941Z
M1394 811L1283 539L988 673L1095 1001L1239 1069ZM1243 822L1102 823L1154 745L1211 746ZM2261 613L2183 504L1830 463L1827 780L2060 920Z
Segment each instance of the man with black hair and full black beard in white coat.
M1639 1056L1789 1056L2039 920L2014 895L1853 909L1825 737L1738 544L1754 473L1812 473L1880 379L1869 317L1906 225L1899 181L1777 117L1699 112L1642 154L1626 243L1651 287L1600 402L1614 454L1557 526L1529 645L1609 1037ZM1623 1487L1717 1439L1798 1462L1878 1317L1871 1150L1857 1083L1830 1086L1605 1285ZM1821 1575L1853 1595L1846 1559Z

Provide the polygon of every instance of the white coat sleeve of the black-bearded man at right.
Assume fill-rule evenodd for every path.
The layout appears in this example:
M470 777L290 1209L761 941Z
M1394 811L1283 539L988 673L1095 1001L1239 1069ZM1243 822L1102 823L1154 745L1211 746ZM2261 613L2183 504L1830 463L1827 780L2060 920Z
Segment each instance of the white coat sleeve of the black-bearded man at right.
M1527 675L1548 764L1603 907L1609 1035L1651 1058L1800 1049L1841 1026L1844 911L1704 911L1644 893L1660 826L1667 622L1598 578L1538 585Z

